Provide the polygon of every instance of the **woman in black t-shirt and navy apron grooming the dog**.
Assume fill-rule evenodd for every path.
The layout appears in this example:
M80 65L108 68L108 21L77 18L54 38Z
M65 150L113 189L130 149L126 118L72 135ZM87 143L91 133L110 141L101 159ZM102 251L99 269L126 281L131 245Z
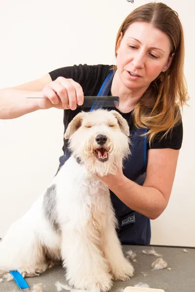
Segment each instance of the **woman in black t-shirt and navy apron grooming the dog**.
M56 107L66 109L66 129L83 96L119 96L116 110L129 123L132 154L123 171L101 180L110 189L121 242L150 244L150 219L159 217L168 204L183 137L179 107L186 103L187 87L183 30L176 12L163 3L134 10L118 31L116 58L117 66L60 68L1 90L0 118ZM64 141L60 165L68 159L66 148Z

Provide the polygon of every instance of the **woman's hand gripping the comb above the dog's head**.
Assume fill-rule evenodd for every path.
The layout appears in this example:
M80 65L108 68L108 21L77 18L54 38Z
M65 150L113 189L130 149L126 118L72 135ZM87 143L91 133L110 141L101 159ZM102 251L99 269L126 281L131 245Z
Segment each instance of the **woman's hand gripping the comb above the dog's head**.
M42 97L48 98L40 98L40 109L55 107L62 110L76 110L77 106L83 104L84 94L80 84L73 79L58 77L43 88Z

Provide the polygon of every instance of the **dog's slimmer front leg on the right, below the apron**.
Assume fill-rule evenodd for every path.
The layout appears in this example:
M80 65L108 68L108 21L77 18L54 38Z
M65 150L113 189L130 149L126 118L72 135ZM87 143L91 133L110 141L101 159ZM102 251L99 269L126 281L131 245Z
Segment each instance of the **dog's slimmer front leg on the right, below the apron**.
M111 212L112 213L112 212ZM126 281L134 274L134 267L123 255L121 243L115 229L116 219L110 216L103 233L103 250L109 261L114 280Z

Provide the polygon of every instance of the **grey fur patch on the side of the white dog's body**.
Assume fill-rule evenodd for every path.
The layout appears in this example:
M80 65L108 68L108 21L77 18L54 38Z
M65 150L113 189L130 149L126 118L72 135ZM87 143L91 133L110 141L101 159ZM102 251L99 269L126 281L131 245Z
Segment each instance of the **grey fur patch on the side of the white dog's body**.
M55 231L59 231L58 216L56 210L56 184L52 184L46 190L43 199L45 217L49 220Z

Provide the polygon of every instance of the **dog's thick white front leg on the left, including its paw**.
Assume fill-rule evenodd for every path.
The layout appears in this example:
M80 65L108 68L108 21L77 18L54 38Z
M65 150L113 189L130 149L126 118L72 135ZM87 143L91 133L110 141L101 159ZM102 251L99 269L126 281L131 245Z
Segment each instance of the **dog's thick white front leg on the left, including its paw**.
M93 230L62 228L61 256L66 279L76 289L105 292L113 285L107 260ZM99 238L98 238L99 241Z

